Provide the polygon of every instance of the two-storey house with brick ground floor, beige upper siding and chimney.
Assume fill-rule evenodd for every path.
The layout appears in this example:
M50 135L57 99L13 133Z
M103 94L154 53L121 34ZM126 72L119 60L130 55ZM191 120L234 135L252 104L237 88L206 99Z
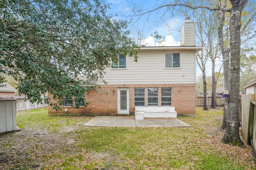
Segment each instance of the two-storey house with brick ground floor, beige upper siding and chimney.
M81 103L78 109L65 102L62 111L56 112L49 105L49 114L64 115L68 109L67 115L119 115L134 114L136 106L174 106L177 116L194 117L196 53L203 47L195 46L195 22L189 18L180 34L181 46L141 47L138 62L119 54L119 63L106 69L104 80L108 84L97 82L108 94L92 91L88 107Z

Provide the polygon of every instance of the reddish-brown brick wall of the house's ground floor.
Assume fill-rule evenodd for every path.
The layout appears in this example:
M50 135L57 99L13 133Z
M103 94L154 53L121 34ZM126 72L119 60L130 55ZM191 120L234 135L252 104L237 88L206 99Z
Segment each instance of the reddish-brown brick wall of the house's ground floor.
M79 109L67 108L67 115L117 115L117 93L118 88L129 88L129 110L130 114L134 114L134 88L145 88L145 105L147 106L147 88L158 87L159 96L158 103L161 106L161 87L171 87L173 104L178 116L195 116L195 84L154 84L154 85L101 85L102 90L98 93L92 91L89 96L85 96L87 101L91 101L88 107L80 107ZM115 92L113 92L115 90ZM104 92L107 92L104 93ZM51 95L49 95L52 98ZM94 107L93 107L94 106ZM64 109L56 112L51 106L48 106L49 114L65 114Z

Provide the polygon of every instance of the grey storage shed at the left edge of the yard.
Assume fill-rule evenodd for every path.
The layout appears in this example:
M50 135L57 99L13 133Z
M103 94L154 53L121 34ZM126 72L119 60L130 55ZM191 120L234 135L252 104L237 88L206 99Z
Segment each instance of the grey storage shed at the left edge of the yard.
M18 131L16 126L16 99L0 97L0 133Z

